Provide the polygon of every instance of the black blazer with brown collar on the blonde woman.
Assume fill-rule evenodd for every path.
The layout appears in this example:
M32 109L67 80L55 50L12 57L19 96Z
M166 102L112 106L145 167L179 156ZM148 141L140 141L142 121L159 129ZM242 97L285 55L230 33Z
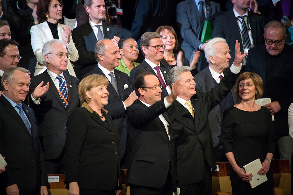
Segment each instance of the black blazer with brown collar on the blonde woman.
M119 134L106 111L104 117L106 121L102 121L86 103L69 116L65 147L66 183L78 182L80 189L122 189Z

